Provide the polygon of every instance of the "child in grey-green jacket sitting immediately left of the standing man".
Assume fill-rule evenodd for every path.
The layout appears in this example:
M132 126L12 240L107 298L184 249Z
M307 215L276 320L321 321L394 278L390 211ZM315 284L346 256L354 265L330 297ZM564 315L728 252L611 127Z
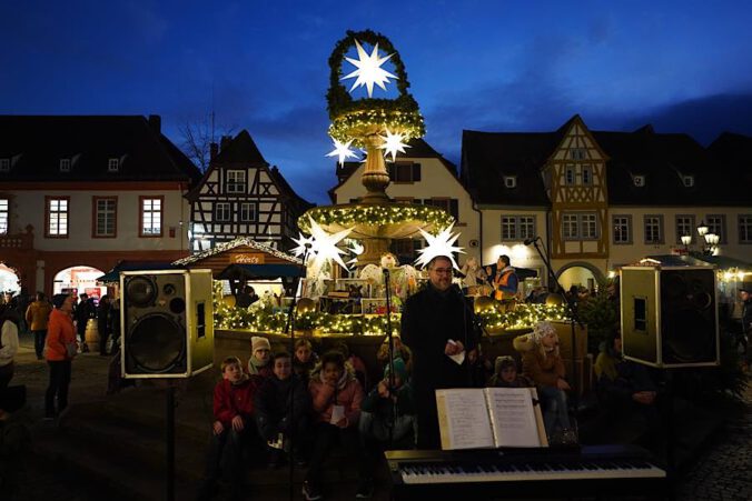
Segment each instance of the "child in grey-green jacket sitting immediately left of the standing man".
M390 373L387 364L384 379L360 405L363 412L358 429L369 453L378 452L379 449L415 447L415 401L407 383L405 362L394 359L394 381L390 380Z

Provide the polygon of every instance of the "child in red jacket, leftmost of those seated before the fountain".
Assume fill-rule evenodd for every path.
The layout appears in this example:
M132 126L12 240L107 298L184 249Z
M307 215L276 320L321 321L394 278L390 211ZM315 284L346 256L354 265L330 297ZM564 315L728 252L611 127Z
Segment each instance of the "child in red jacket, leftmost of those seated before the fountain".
M243 363L237 357L226 358L220 369L222 380L214 389L215 421L199 500L212 498L220 474L230 485L231 499L239 499L243 447L258 441L253 415L259 378L243 372Z

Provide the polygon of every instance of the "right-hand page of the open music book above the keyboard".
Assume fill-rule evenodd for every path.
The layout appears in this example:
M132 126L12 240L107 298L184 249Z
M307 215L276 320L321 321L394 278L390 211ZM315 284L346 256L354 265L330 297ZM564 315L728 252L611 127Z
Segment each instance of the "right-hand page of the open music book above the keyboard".
M496 447L541 447L530 388L486 388Z

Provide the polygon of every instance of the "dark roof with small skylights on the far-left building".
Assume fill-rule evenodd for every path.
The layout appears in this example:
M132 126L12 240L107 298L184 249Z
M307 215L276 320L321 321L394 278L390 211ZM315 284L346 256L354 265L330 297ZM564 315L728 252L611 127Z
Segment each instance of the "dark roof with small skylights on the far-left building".
M141 116L0 116L0 181L186 181L200 172ZM60 160L70 171L60 172ZM117 172L108 170L118 159Z

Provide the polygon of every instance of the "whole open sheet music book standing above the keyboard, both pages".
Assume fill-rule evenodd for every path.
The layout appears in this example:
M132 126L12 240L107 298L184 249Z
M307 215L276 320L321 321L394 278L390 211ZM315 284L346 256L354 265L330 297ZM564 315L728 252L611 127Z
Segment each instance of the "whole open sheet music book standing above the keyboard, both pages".
M443 450L548 447L535 388L436 390Z

